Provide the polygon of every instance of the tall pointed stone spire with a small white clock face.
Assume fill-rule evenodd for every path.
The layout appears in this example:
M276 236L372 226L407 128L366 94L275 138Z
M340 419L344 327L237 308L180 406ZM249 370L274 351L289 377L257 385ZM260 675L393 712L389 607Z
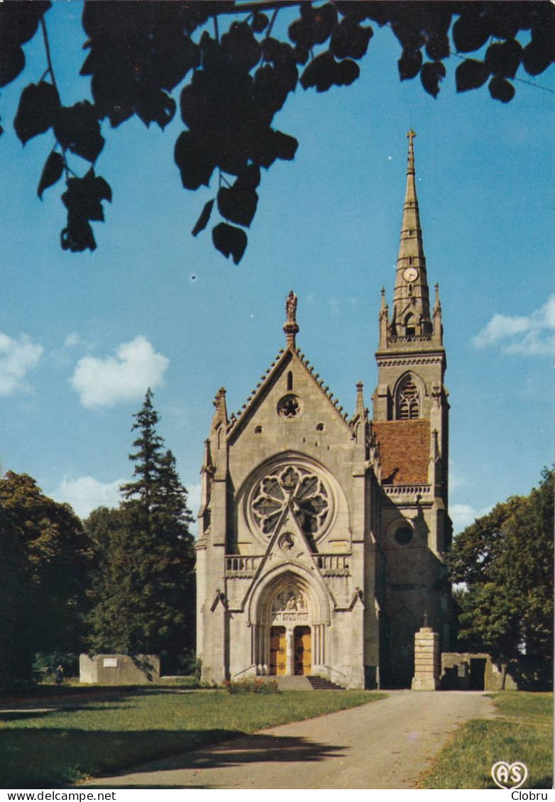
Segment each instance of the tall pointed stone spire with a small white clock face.
M427 286L426 259L422 244L422 229L416 196L415 150L416 134L407 133L407 186L403 204L403 222L399 239L399 256L393 294L392 323L394 334L411 336L431 334L429 290Z

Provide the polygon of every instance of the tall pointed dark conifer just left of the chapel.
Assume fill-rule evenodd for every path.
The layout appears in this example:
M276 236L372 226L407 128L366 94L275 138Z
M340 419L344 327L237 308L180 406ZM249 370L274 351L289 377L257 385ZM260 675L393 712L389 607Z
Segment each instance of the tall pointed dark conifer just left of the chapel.
M187 491L172 452L156 432L149 390L134 416L134 479L116 510L85 522L95 544L91 648L161 654L172 666L194 647L194 556Z

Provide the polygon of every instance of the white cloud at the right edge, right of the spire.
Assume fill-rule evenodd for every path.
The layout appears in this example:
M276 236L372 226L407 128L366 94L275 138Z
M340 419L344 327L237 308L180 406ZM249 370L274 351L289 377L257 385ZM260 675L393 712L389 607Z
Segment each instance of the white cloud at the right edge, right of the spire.
M472 342L476 348L500 345L504 354L555 353L555 295L529 315L494 314Z

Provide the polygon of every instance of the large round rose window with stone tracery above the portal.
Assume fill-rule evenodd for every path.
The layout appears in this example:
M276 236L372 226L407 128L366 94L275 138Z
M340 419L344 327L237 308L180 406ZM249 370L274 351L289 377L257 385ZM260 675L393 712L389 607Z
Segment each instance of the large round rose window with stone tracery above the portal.
M318 537L330 517L330 492L307 468L277 468L253 488L250 512L264 535L271 535L286 509L306 535Z

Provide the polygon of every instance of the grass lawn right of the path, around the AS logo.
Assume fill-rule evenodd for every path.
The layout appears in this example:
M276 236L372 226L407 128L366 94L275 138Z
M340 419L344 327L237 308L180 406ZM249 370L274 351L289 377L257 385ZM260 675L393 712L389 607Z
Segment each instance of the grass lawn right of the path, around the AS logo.
M490 771L498 760L526 765L521 788L553 787L553 694L504 691L493 701L496 718L460 727L418 788L497 788Z

